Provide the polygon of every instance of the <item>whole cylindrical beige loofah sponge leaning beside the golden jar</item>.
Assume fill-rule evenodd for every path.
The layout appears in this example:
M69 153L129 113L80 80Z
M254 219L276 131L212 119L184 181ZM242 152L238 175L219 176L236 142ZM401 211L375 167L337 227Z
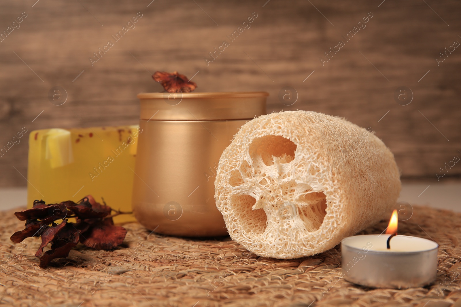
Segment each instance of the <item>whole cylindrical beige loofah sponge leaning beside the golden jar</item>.
M321 253L388 219L400 190L394 156L371 128L300 110L247 122L215 181L231 238L280 259Z

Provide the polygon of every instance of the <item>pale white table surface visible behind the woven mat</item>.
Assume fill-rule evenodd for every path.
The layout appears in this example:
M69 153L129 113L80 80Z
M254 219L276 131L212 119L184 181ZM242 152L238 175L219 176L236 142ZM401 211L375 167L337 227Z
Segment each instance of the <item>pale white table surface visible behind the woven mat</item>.
M26 188L1 188L0 210L24 207L26 197ZM461 182L403 183L398 201L461 212Z

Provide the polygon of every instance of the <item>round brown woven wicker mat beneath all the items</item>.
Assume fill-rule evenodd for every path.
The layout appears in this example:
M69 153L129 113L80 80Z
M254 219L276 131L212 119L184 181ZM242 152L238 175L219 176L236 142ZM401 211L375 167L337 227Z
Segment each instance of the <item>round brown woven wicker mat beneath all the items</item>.
M414 206L413 216L399 222L399 234L440 245L436 282L407 290L349 284L341 277L339 246L277 260L229 237L168 237L137 223L125 225L125 246L97 251L79 244L67 259L41 269L38 239L9 239L23 223L13 211L1 213L0 304L6 306L461 306L461 214L446 210ZM386 226L382 221L361 234Z

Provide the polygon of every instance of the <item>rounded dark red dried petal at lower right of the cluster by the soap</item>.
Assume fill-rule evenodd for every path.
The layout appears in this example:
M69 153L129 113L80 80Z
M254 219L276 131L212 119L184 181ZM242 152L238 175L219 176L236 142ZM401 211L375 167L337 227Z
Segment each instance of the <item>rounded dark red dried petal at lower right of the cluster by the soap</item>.
M126 229L112 224L112 218L96 222L80 236L80 242L94 249L116 248L123 243Z

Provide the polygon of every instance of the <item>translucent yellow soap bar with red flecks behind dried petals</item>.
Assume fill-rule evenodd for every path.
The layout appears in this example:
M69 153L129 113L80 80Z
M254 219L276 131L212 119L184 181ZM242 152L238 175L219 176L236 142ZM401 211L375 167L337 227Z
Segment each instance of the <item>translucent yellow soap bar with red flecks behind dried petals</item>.
M113 209L131 211L139 126L35 130L29 137L27 206L77 202L91 194ZM134 221L132 214L115 223Z

